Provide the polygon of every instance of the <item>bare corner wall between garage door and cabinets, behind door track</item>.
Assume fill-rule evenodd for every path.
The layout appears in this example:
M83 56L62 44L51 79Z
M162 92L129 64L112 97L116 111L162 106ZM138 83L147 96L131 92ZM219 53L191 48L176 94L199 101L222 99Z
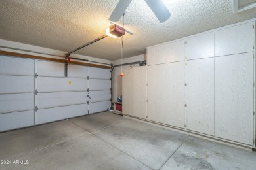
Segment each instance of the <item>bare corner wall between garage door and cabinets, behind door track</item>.
M146 60L146 54L141 54L139 56L133 56L131 58L124 58L123 64L125 63L133 63L136 61L144 61ZM113 65L119 65L121 64L121 59L117 59L115 61L112 61ZM129 67L137 67L139 64L136 65L125 65L123 66L123 70L129 68ZM122 95L122 78L119 76L121 73L121 66L115 67L112 73L112 102L116 101L117 97L119 95Z

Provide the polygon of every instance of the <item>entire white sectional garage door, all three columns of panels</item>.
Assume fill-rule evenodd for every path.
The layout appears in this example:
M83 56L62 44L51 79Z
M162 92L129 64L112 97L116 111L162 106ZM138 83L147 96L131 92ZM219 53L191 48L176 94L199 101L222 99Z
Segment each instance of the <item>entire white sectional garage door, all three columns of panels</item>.
M64 63L11 56L0 61L0 131L110 108L109 69L68 65L65 77Z

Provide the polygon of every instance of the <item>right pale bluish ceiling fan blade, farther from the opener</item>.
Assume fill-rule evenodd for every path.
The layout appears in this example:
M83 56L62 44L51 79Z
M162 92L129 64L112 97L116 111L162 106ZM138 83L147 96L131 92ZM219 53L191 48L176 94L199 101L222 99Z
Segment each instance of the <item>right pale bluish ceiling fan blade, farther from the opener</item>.
M163 1L161 0L145 0L150 9L156 15L156 18L162 23L170 18L171 14Z

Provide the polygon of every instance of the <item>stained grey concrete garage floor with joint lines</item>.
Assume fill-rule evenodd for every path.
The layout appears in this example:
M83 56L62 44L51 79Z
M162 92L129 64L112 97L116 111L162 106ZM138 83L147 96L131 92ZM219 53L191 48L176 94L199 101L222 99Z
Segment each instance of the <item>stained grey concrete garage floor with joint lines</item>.
M0 133L0 160L12 162L0 169L256 169L256 152L112 112Z

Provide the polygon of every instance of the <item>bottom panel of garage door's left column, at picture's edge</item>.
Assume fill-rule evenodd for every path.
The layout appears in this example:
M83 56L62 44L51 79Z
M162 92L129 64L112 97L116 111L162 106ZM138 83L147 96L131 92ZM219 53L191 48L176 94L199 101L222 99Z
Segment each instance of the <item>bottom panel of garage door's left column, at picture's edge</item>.
M34 125L34 110L0 114L0 131Z

